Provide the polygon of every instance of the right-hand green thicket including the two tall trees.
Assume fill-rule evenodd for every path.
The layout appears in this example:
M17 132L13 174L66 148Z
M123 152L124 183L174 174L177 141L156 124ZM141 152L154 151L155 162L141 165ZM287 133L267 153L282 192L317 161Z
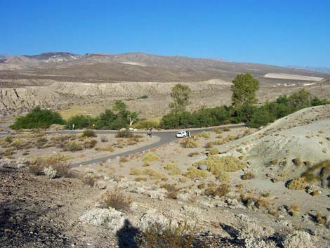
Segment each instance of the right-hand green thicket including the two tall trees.
M251 74L238 74L232 83L232 105L203 108L194 112L187 112L185 109L190 89L187 89L187 86L173 87L171 96L176 97L173 97L170 107L176 107L171 107L171 112L161 119L159 126L163 129L180 129L245 122L247 126L258 128L304 107L330 103L329 100L319 99L301 90L291 96L279 96L274 101L256 105L256 91L259 89L257 79L254 79ZM185 93L173 92L178 89Z

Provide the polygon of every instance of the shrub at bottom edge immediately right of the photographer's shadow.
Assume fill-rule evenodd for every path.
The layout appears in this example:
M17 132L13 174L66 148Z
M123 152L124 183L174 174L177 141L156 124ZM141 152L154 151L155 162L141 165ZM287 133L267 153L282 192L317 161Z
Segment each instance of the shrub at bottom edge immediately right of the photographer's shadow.
M145 248L189 248L196 239L192 233L193 228L187 223L181 223L178 226L169 223L164 227L158 223L152 223L142 233L139 245Z

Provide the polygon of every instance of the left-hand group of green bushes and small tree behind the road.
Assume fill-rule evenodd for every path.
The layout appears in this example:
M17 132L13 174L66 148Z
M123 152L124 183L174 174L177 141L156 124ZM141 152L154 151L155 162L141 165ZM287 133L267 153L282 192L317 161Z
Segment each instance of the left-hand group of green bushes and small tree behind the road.
M34 108L31 112L23 117L18 117L12 129L46 129L52 124L67 125L67 128L75 129L121 129L122 127L131 126L138 119L136 112L127 110L126 104L121 100L117 100L112 110L98 115L98 117L90 117L88 115L75 115L65 122L57 112L51 110L43 110L40 107Z

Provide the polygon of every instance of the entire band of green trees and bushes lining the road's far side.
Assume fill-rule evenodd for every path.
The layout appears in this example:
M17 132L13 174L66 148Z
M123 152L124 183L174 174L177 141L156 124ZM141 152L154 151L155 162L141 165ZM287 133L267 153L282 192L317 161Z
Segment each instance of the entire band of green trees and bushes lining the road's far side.
M290 96L279 96L274 101L257 105L256 91L259 89L257 79L253 78L251 74L238 74L232 83L232 105L202 108L194 112L188 112L186 109L191 89L183 84L176 84L171 91L173 98L173 102L169 104L171 112L162 117L159 127L179 129L245 122L247 126L258 128L304 107L330 103L329 100L317 98L307 91L301 90ZM11 128L44 129L51 124L66 124L68 128L71 128L74 124L76 129L121 129L131 126L137 120L138 114L128 111L126 104L117 100L111 110L105 110L98 117L75 115L67 122L57 112L36 107L24 117L18 117ZM150 124L140 122L139 127Z

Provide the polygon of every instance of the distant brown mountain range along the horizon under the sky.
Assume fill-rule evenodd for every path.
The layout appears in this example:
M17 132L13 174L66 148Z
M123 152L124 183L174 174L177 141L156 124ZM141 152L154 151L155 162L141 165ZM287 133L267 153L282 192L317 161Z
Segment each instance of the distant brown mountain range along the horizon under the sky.
M157 56L146 53L49 52L0 59L0 71L34 71L38 77L102 79L111 81L232 81L239 73L251 73L260 81L283 83L278 79L317 81L329 74L301 68L258 63L235 63L211 58ZM19 72L20 71L20 72ZM22 74L26 74L22 72ZM299 77L292 77L299 75ZM26 76L25 76L26 77Z

